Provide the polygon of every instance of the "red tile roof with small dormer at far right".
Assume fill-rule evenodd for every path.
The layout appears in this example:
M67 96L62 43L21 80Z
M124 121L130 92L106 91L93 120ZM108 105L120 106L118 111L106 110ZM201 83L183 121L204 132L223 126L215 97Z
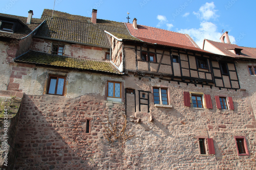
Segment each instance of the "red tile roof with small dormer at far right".
M228 44L228 43L221 43L221 42L216 42L216 41L211 41L205 39L205 41L209 42L213 46L215 46L217 49L219 49L222 53L224 53L227 56L234 57L234 58L251 58L251 59L256 59L256 48L250 48L250 47L240 47L236 44ZM236 55L232 53L228 49L233 49L233 48L240 48L241 50L241 55Z

